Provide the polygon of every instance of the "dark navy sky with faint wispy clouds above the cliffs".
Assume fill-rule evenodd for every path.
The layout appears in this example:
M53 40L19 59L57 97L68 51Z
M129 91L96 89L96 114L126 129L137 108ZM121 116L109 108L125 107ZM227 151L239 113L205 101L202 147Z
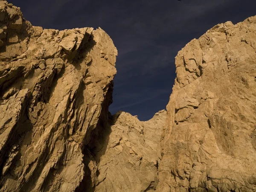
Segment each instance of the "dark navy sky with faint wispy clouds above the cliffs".
M45 29L101 27L118 49L111 113L140 120L166 108L175 56L212 26L256 15L256 0L9 0Z

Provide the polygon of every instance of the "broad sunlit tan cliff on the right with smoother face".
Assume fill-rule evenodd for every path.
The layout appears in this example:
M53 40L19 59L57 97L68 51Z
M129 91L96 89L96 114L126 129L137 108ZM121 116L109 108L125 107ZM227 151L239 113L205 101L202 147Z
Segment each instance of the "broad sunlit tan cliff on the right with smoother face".
M256 16L214 26L175 64L157 191L256 191Z

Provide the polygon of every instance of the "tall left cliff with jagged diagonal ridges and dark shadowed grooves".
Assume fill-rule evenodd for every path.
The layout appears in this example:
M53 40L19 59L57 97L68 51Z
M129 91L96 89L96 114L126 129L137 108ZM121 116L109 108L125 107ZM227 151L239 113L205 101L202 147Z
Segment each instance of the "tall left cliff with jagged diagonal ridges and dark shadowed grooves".
M108 115L117 51L92 28L32 26L0 1L0 191L73 192Z

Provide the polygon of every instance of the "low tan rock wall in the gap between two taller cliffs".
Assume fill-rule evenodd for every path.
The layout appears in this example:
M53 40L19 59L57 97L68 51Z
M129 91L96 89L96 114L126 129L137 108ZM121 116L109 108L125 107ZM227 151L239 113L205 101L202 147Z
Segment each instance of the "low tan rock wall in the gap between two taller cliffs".
M166 111L145 122L116 113L93 153L99 162L96 192L151 192L156 189L158 154ZM103 139L102 139L103 138Z

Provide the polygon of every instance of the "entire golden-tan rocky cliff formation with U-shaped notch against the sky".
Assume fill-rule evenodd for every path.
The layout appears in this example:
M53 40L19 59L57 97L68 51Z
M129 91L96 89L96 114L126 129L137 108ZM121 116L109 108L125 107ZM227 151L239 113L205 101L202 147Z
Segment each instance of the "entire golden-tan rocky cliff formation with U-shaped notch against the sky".
M116 55L102 29L42 29L0 1L1 192L256 191L256 17L178 52L146 122L108 112Z

